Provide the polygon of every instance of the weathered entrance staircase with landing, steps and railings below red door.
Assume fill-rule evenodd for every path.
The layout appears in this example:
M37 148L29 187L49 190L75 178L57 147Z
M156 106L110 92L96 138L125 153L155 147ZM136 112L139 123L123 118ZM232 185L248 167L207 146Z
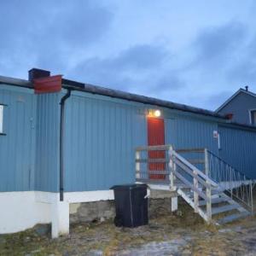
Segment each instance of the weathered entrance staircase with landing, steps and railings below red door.
M177 191L208 223L225 224L253 213L253 179L206 148L139 147L136 178Z

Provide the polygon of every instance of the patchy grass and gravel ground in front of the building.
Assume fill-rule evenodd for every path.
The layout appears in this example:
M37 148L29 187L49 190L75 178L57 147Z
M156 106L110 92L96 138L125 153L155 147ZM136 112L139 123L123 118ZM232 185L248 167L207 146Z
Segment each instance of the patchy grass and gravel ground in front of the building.
M116 228L112 220L71 226L69 236L50 239L38 225L0 236L0 255L256 255L256 218L205 224L183 204L175 214L159 211L146 226Z

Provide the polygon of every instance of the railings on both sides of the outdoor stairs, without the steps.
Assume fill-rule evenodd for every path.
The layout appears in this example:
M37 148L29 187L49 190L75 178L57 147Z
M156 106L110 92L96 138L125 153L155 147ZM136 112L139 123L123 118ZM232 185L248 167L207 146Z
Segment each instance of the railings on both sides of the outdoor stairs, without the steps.
M154 155L150 157L150 152L154 151L163 152L163 154L155 154L155 158ZM181 155L183 153L202 154L204 157L201 163L205 166L205 172L184 158ZM199 207L199 198L207 201L207 212L203 218L208 222L212 219L212 191L216 190L253 213L253 183L255 181L207 148L174 150L172 145L146 146L137 147L135 156L137 181L165 184L171 190L176 190L179 184L177 181L181 181L193 192L194 201L189 201L189 198L186 198L182 192L180 195L189 201L189 204L195 208L195 212L205 214ZM179 190L178 188L177 191Z

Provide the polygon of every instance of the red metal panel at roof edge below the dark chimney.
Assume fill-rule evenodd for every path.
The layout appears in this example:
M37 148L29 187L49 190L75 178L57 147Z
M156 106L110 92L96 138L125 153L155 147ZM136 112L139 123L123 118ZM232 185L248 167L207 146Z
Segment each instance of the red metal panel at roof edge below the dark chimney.
M34 79L35 93L49 93L61 90L61 75L47 77L43 79Z

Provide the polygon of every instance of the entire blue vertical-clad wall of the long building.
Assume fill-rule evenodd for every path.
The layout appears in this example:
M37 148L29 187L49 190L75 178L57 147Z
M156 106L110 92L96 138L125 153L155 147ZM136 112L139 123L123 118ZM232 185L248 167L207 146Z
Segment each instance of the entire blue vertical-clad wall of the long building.
M34 95L0 88L4 131L0 136L0 191L59 190L62 93ZM109 189L135 181L134 148L147 145L146 111L152 106L73 91L66 102L65 191ZM254 174L256 133L218 125L217 119L162 108L166 143L209 148L241 172ZM221 150L213 131L219 131ZM255 175L253 175L255 177Z

